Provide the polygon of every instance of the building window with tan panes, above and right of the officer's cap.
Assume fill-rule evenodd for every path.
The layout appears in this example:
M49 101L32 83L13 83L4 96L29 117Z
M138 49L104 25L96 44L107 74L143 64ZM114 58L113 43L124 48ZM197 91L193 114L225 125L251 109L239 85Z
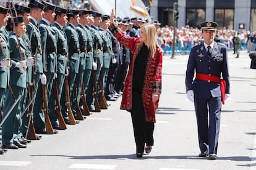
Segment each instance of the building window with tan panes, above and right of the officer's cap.
M215 22L218 29L234 29L234 9L215 9Z

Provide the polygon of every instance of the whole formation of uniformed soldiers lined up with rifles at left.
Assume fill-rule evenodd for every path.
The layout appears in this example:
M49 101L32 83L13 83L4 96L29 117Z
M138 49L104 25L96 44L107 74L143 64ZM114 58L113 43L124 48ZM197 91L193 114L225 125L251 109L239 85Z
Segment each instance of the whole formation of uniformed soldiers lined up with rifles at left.
M108 30L109 18L36 0L0 7L0 154L67 129L121 96L130 52ZM140 19L121 20L124 31L130 21ZM139 26L132 29L136 36Z

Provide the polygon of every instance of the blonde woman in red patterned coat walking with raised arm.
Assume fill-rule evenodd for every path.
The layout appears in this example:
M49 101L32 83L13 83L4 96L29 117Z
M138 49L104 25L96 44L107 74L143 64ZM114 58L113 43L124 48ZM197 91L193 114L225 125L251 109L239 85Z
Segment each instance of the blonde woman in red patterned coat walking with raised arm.
M113 15L111 19L113 20ZM153 131L161 94L163 52L156 39L156 28L151 23L140 26L139 38L126 36L114 22L109 30L122 45L132 51L120 108L131 113L136 155L142 158L145 144L145 152L150 153L154 143Z

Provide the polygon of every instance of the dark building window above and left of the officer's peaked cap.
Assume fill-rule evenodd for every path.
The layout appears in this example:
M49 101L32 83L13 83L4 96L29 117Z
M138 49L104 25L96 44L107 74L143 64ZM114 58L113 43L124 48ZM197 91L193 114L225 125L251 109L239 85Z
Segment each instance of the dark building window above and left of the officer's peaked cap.
M205 21L205 9L187 9L186 25L199 28L200 23Z

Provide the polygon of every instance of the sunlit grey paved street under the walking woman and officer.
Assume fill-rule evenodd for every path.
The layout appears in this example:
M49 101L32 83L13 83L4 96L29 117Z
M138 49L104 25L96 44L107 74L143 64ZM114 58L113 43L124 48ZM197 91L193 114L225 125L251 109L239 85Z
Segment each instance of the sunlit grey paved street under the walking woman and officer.
M150 155L135 156L132 121L121 99L65 131L0 155L0 169L256 169L256 70L246 51L229 52L231 96L223 105L218 160L198 158L193 103L186 99L188 55L164 56L163 91Z

